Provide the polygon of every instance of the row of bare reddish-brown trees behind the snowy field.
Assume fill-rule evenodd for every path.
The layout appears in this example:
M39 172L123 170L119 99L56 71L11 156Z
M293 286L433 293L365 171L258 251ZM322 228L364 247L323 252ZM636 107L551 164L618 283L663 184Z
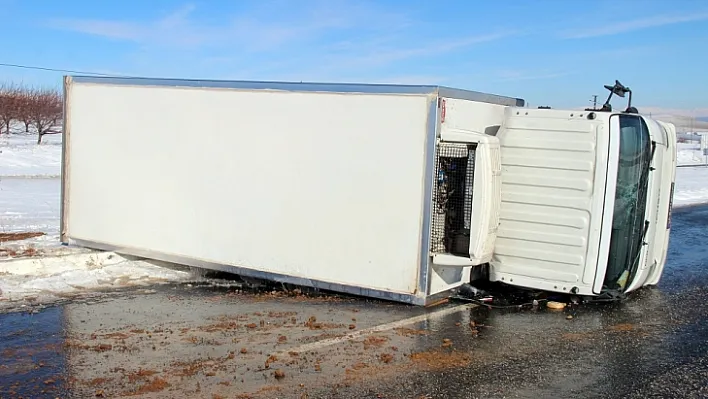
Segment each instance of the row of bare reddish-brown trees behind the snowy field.
M37 144L47 134L61 133L62 94L51 88L0 85L0 135L35 133Z

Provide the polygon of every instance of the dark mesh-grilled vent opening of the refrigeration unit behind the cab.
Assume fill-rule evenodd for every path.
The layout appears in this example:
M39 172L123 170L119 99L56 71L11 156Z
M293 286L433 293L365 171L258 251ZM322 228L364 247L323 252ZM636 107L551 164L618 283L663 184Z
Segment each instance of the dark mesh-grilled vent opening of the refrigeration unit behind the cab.
M431 251L469 256L476 144L440 143L435 152Z

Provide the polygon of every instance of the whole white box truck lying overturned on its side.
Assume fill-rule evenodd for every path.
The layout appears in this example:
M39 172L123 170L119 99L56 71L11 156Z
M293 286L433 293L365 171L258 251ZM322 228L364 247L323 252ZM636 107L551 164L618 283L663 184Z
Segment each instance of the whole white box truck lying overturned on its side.
M675 130L631 110L438 86L64 88L69 245L416 305L481 268L588 296L662 273Z

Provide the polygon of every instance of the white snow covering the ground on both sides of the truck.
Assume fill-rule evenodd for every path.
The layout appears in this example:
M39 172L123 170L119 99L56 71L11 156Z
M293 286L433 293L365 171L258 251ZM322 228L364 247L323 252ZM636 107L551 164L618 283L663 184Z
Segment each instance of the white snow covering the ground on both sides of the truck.
M61 136L45 140L37 145L35 135L0 136L0 234L45 233L20 242L0 242L0 310L28 298L47 303L97 290L198 278L163 263L62 247ZM704 162L697 143L679 143L678 160L683 165ZM706 202L708 167L678 168L674 205ZM43 256L22 257L27 248Z

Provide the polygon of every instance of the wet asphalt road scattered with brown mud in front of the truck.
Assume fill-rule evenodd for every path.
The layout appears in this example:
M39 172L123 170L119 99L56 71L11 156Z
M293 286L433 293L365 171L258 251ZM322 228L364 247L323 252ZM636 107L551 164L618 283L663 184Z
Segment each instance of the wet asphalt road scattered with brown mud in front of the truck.
M701 206L674 212L658 287L615 305L426 310L180 285L2 315L0 398L708 398L707 300Z

